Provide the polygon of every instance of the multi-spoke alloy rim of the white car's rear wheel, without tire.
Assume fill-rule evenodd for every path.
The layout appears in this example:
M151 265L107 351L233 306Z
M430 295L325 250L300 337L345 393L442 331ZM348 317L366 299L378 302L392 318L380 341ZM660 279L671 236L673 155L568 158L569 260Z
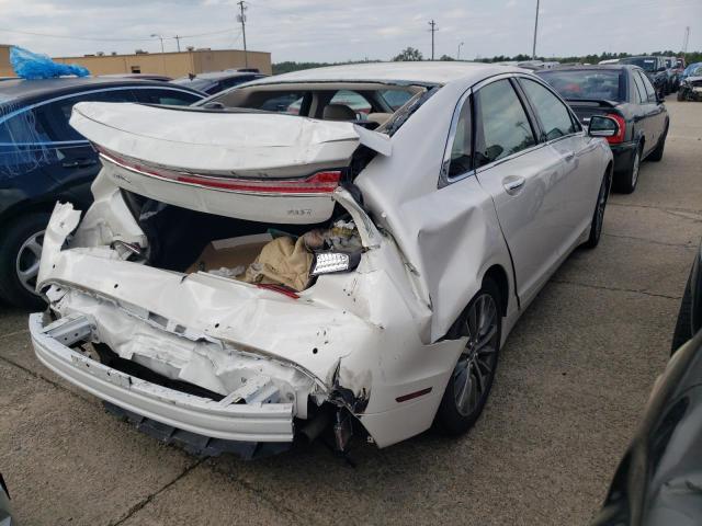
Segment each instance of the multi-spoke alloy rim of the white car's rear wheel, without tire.
M487 396L497 365L499 313L492 296L478 296L464 323L468 341L453 370L453 392L456 410L468 416Z

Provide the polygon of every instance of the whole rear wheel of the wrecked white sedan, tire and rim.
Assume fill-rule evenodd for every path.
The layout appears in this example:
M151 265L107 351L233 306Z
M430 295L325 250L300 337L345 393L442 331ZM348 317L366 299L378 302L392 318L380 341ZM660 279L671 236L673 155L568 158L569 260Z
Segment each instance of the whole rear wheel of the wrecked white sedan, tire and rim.
M441 430L455 435L465 433L483 412L497 369L501 321L499 289L486 279L461 318L461 333L468 341L437 412Z

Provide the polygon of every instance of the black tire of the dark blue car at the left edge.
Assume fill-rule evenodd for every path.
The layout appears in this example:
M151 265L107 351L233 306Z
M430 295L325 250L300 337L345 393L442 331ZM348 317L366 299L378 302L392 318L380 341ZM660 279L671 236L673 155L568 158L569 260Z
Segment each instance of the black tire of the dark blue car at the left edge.
M18 217L0 235L0 296L18 307L43 309L46 306L39 296L22 284L18 274L18 255L26 241L46 229L49 217L45 213ZM24 264L24 261L20 263Z

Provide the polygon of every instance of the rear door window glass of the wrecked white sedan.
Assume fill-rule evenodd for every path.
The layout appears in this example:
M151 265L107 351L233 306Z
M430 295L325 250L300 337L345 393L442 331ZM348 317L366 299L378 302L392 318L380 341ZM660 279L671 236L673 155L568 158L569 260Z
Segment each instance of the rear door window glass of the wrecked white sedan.
M511 156L536 144L517 92L509 80L498 80L476 93L477 165Z

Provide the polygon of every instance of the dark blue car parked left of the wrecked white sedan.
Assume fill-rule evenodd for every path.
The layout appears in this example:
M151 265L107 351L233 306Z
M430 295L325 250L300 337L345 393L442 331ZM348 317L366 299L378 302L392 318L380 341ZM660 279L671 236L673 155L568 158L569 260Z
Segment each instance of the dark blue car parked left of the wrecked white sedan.
M60 78L0 82L0 298L41 306L34 294L43 231L56 201L87 209L100 171L68 124L83 101L184 105L202 93L158 81Z

